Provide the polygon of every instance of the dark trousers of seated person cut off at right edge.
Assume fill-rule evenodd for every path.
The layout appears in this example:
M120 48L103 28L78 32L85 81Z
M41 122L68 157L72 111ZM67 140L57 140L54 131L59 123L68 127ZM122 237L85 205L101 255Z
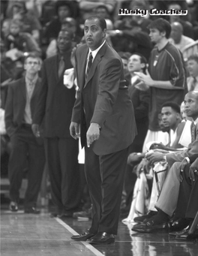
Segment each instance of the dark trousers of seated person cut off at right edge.
M175 214L179 218L194 218L198 211L198 177L193 182L189 176L190 164L184 169L183 181L180 183L178 204Z

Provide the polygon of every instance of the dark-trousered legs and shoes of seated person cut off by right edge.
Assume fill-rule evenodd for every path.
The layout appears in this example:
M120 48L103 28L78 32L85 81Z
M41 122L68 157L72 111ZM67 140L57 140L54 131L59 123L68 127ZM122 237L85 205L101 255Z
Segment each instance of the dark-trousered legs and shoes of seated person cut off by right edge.
M181 171L178 203L174 216L176 221L172 221L170 230L173 232L170 232L169 235L182 239L197 239L196 228L191 230L192 233L189 233L189 231L196 212L198 212L198 153L187 160L189 163L186 164L184 160L184 168L182 167L183 170Z

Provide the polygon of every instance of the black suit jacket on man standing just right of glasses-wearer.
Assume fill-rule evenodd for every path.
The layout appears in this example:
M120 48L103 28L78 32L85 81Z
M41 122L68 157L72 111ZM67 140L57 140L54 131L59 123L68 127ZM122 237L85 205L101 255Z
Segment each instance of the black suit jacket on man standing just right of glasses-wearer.
M72 68L70 56L71 51L66 53L65 69ZM69 127L76 91L63 84L63 73L58 78L57 55L44 60L40 98L33 116L37 125L44 119L44 137L71 138Z

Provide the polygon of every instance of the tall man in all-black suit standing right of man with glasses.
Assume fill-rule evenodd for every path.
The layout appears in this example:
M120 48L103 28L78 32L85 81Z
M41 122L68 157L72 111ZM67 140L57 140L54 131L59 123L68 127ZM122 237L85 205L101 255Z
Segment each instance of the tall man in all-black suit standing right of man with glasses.
M43 62L42 84L32 130L39 137L39 125L44 120L46 161L51 184L52 203L56 209L51 216L71 217L79 210L80 171L78 142L70 135L71 113L76 91L63 83L64 71L72 68L73 33L58 34L58 54Z

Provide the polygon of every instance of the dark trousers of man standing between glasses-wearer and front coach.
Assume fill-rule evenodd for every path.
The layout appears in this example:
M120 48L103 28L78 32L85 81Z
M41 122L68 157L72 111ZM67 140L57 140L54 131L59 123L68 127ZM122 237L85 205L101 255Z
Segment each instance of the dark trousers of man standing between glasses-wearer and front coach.
M80 203L80 168L78 140L46 138L52 202L59 210L75 210Z

